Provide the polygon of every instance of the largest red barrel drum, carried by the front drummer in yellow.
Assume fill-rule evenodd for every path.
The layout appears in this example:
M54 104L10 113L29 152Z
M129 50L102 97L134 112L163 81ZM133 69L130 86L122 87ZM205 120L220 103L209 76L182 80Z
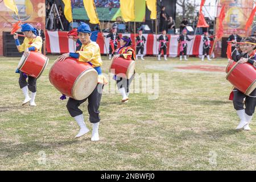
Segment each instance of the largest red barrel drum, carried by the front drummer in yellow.
M62 94L84 100L97 86L98 73L89 63L68 57L55 61L49 71L49 81Z

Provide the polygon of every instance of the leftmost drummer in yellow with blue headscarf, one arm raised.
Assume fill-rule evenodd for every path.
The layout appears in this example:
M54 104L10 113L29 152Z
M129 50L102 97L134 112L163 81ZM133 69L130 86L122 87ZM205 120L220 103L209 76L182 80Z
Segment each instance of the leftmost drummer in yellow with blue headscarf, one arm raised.
M23 34L26 36L23 43L20 45L18 40L18 35L14 35L15 44L19 52L24 52L25 56L28 56L30 51L41 52L42 48L42 38L36 34L36 29L28 23L22 24ZM25 96L25 100L22 105L30 102L31 106L36 106L35 96L36 96L36 78L27 76L25 73L17 70L16 73L20 73L19 76L19 86ZM26 78L28 77L28 81ZM28 90L31 91L31 97L28 95Z

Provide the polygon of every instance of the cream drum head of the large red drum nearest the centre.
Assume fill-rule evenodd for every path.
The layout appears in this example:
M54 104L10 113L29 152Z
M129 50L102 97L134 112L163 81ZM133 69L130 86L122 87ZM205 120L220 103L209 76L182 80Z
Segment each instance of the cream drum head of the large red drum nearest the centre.
M94 90L98 84L98 73L92 69L86 69L77 78L72 88L72 97L75 100L84 100L87 98Z

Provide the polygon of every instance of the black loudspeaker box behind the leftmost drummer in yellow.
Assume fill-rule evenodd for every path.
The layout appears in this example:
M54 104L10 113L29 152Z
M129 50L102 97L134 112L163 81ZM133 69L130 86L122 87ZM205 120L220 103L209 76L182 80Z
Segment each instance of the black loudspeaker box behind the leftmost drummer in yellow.
M18 32L22 34L22 32ZM23 42L24 37L18 37L20 44ZM15 40L10 32L3 32L3 56L6 57L21 57L23 52L19 52L16 48Z

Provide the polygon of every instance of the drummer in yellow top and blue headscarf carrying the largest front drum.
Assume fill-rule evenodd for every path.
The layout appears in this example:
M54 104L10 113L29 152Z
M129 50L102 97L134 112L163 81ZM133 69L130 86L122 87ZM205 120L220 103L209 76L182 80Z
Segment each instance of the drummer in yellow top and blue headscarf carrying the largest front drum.
M104 84L107 84L106 78L101 73L101 54L100 47L96 42L92 42L90 40L90 35L92 32L90 31L90 27L88 24L81 22L79 27L77 28L77 32L79 33L79 40L82 43L80 51L76 53L64 53L59 56L58 60L63 61L67 57L74 57L79 61L85 61L92 65L94 69L96 69L98 73L98 84L96 88L94 88L93 92L85 98L84 100L75 100L73 98L69 98L67 103L67 109L69 114L76 120L77 124L80 126L80 131L76 135L76 138L81 137L82 135L89 132L89 129L86 127L84 122L84 117L82 115L82 111L79 109L79 106L88 99L88 112L89 112L89 121L92 123L93 131L92 131L92 141L99 140L98 135L98 126L100 124L100 111L98 110L100 107L102 89Z

